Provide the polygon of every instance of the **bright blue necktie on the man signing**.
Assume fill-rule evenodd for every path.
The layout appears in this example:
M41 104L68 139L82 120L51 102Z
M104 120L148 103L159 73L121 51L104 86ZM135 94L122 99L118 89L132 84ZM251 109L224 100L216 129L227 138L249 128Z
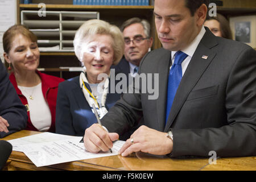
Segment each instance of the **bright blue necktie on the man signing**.
M177 51L175 53L174 65L170 70L168 76L168 90L167 90L167 106L166 106L166 123L171 111L172 102L174 101L174 97L177 91L177 88L180 84L180 80L182 78L182 68L181 63L186 59L188 55L184 52Z

